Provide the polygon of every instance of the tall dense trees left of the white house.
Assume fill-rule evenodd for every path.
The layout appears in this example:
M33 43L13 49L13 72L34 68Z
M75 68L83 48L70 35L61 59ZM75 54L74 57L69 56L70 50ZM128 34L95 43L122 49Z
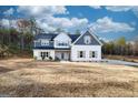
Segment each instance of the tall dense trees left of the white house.
M37 32L38 28L33 19L17 20L17 28L3 27L0 22L0 58L31 54L33 37Z

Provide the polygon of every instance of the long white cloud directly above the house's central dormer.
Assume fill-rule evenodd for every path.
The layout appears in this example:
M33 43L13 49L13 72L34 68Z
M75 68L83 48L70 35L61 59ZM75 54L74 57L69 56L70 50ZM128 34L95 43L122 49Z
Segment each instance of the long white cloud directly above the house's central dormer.
M88 20L86 18L55 18L47 17L45 19L37 20L39 27L41 27L45 31L55 31L57 28L61 28L63 30L67 29L82 29L88 25Z

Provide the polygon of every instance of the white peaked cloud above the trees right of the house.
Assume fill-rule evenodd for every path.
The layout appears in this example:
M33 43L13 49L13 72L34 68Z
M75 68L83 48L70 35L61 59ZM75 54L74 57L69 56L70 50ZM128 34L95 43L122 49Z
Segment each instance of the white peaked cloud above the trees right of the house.
M115 22L112 19L105 17L102 19L98 19L96 22L91 23L90 27L97 32L130 32L134 31L135 28L130 27L124 22Z

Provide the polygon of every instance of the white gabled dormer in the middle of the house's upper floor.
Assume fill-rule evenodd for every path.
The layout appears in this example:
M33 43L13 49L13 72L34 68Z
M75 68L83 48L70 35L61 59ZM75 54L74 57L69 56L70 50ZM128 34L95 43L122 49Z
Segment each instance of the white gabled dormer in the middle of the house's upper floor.
M55 48L70 48L71 39L67 33L59 33L55 39Z

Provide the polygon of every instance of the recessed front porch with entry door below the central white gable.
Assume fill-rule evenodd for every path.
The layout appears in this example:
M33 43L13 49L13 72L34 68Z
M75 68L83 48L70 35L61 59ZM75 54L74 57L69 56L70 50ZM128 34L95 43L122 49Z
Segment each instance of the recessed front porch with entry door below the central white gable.
M70 60L70 50L56 50L55 60L69 61Z

